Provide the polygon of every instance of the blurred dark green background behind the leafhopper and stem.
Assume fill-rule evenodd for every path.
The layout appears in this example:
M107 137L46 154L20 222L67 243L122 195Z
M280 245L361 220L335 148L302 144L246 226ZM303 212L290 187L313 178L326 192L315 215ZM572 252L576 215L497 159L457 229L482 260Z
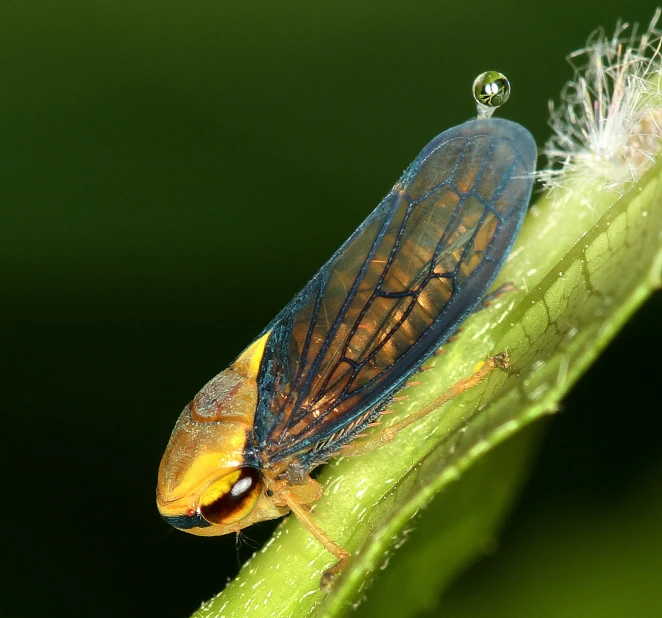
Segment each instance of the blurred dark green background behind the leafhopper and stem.
M474 114L476 74L508 75L501 115L542 145L565 55L653 10L0 4L0 614L174 618L217 592L253 548L170 530L154 505L180 410ZM548 423L444 615L662 615L661 311L658 294Z

